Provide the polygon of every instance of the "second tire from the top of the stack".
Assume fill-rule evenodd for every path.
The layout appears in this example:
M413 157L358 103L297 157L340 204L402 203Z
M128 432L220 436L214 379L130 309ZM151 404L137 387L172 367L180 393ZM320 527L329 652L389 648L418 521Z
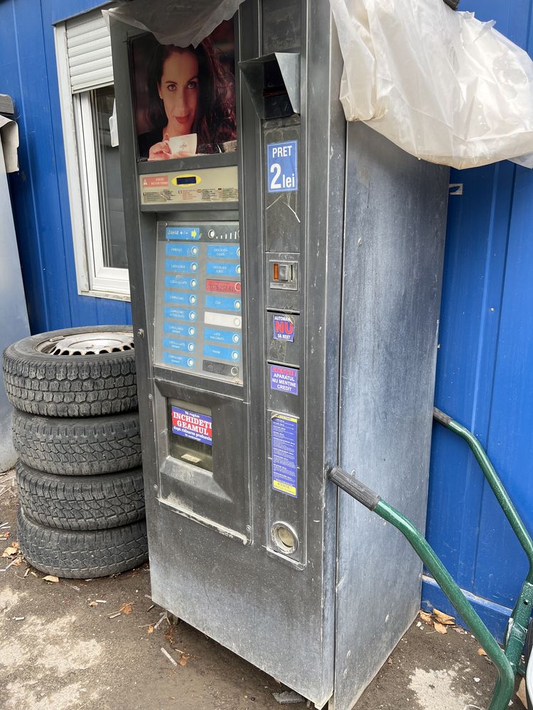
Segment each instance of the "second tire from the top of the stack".
M13 413L13 444L26 466L58 476L94 476L141 465L139 414L36 417Z

